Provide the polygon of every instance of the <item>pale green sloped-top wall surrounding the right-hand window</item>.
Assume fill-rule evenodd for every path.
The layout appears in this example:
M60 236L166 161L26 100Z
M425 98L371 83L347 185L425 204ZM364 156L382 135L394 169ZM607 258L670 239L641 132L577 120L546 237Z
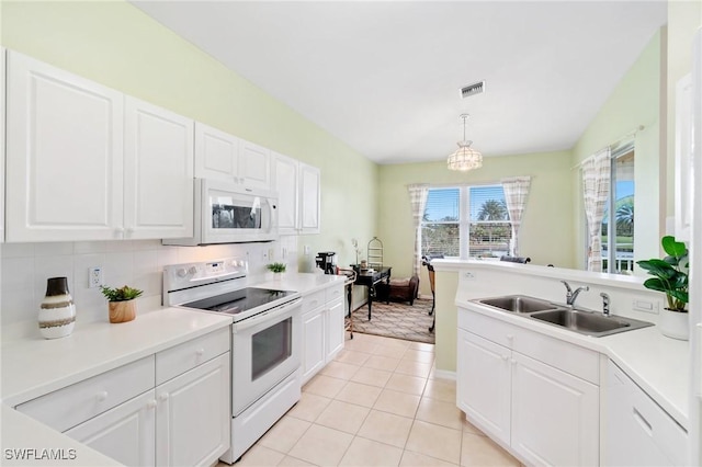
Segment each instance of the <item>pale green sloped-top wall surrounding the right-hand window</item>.
M665 160L661 151L661 109L665 109L665 93L660 92L661 76L665 76L666 32L657 31L626 75L616 84L607 102L590 122L573 149L574 166L580 163L605 146L616 146L618 141L631 140L639 126L644 129L635 135L635 244L636 258L658 255L658 239L665 226L665 185L666 172L660 170ZM665 121L665 115L663 116ZM576 216L574 232L576 236L576 262L578 269L585 269L585 208L580 171L573 171L574 212Z

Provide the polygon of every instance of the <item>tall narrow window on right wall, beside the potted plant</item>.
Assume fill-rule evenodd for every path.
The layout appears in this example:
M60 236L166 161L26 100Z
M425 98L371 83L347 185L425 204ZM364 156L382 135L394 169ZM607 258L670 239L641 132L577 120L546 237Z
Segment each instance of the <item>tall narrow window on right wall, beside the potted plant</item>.
M634 266L634 146L612 151L610 198L602 218L602 271Z

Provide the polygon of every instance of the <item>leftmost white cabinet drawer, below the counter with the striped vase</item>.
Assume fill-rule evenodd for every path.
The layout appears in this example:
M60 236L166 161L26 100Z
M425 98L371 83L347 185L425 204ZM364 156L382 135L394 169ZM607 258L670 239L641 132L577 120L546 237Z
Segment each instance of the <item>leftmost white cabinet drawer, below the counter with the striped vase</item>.
M141 358L16 407L64 432L152 389L154 356Z

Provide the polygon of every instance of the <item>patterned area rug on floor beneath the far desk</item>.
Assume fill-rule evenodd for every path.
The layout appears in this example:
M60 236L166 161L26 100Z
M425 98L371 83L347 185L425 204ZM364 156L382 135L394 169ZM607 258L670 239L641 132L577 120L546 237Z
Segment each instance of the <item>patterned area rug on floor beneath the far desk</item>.
M409 303L373 301L373 314L369 321L369 307L363 305L353 311L353 332L384 335L415 342L434 343L434 333L429 332L433 316L429 316L431 300L417 299Z

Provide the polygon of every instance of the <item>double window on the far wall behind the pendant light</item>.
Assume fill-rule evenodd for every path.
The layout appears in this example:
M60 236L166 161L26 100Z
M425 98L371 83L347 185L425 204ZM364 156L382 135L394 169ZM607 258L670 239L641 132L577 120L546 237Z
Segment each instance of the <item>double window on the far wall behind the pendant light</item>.
M421 223L421 252L454 258L509 254L512 226L502 185L430 189Z

